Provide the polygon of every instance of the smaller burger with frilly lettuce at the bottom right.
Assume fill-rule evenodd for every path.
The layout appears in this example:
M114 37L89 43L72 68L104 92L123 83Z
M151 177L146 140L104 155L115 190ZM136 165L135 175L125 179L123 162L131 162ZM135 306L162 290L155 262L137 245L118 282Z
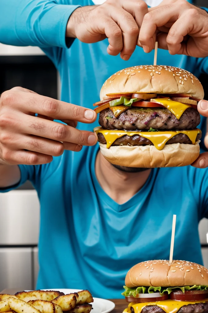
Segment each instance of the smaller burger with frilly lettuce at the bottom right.
M207 313L208 270L199 264L153 260L134 265L125 279L127 313Z

